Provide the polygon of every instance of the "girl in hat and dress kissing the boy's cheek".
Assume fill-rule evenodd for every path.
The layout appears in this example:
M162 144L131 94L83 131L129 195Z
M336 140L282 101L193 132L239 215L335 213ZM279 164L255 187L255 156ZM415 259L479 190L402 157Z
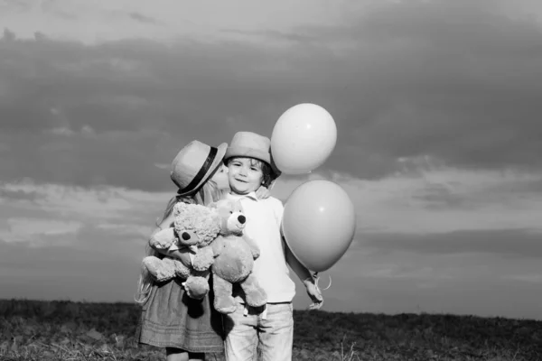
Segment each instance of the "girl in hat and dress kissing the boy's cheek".
M173 227L175 203L207 206L222 197L223 190L229 188L227 169L222 162L227 147L227 143L215 148L193 141L182 148L173 160L171 171L179 190L170 199L153 235ZM190 255L183 250L161 252L191 264ZM164 257L149 245L147 255ZM223 352L221 315L212 308L212 280L209 294L201 301L188 297L181 282L155 283L149 274L142 272L135 297L143 306L136 330L137 342L165 347L168 361L204 360L205 353Z

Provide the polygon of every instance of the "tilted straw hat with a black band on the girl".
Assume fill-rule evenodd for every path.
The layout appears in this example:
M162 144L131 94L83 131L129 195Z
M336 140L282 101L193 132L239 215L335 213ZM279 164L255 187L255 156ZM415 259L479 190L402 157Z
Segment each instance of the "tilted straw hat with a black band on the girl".
M224 159L228 143L211 147L200 141L192 141L177 154L172 162L170 176L179 187L177 194L185 196L200 189Z

